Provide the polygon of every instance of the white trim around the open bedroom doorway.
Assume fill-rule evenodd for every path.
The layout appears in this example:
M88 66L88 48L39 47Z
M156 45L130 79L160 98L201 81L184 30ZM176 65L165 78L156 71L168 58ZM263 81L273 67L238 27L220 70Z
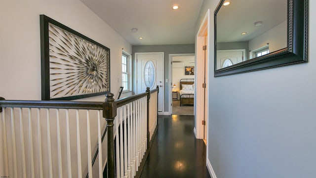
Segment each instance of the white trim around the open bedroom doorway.
M169 100L169 115L172 115L172 106L171 106L171 103L172 103L172 84L174 81L172 81L172 57L174 56L196 56L195 53L180 53L180 54L169 54L169 63L168 63L168 66L169 66L169 85L168 85L168 100ZM196 60L196 57L195 57L195 60ZM172 82L171 82L172 81ZM195 113L194 113L195 115Z

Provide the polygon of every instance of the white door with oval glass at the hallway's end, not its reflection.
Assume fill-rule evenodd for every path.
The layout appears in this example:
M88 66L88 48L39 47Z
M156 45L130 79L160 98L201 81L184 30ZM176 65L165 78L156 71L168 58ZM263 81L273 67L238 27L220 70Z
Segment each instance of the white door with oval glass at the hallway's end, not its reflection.
M137 91L143 93L146 88L156 89L159 86L158 113L163 111L163 52L136 52Z

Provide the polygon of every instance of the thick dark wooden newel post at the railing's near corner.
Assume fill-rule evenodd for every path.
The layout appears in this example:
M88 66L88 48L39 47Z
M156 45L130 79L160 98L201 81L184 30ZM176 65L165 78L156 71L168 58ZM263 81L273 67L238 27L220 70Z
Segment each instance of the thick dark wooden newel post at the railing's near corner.
M114 94L108 93L105 95L106 99L103 103L103 117L107 121L108 133L108 178L115 177L114 168L114 118L117 116L117 103L114 101Z

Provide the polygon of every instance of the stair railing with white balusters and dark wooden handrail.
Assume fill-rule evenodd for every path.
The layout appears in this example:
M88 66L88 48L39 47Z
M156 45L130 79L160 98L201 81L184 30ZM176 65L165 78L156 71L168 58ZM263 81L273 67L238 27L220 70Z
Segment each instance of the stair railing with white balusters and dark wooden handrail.
M114 101L110 135L106 102L0 100L0 177L103 178L107 165L108 177L133 178L157 126L157 99L158 89Z

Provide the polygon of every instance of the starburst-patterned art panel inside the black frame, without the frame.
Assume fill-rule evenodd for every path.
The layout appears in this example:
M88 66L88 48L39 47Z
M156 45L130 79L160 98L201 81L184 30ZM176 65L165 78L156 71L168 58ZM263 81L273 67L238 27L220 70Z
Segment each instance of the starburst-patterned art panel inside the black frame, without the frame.
M50 98L108 91L110 51L48 23Z

